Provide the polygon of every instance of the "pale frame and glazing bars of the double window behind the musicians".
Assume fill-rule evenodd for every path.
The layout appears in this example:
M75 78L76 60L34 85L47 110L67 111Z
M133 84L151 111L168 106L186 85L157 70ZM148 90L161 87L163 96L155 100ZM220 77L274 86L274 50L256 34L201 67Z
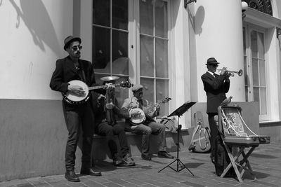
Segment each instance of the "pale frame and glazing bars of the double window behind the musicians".
M112 1L111 0L111 5L112 5ZM169 90L167 90L168 95L165 97L171 97L171 95L174 94L174 91L171 90L172 89L172 83L174 82L174 76L171 76L171 71L173 71L173 67L174 67L174 63L172 64L171 62L173 62L172 57L174 55L171 54L171 52L173 50L171 50L171 1L170 0L163 0L167 2L167 38L166 40L168 41L167 43L167 53L168 53L168 78L158 78L156 76L156 74L153 77L153 80L156 81L157 80L168 80L168 85L169 85ZM93 6L93 2L91 2L91 7ZM131 81L131 83L136 84L136 83L141 83L141 78L145 78L145 76L141 76L141 53L140 53L140 10L139 10L139 0L128 0L128 59L129 59L129 81ZM88 8L88 7L87 7ZM112 13L112 8L111 9L111 13ZM91 11L91 17L93 16L93 10ZM93 18L92 18L93 19ZM110 16L110 20L112 20L112 16ZM112 22L112 21L110 21ZM110 25L111 26L111 25ZM91 38L93 38L93 27L95 27L95 24L93 23L93 20L91 20ZM100 26L99 26L100 27ZM101 26L103 27L103 26ZM112 27L110 27L110 33L112 32L112 30L116 30ZM118 29L117 29L118 30ZM123 30L122 30L123 31ZM155 35L155 34L154 34ZM112 38L112 36L110 36ZM100 74L108 74L108 76L119 76L119 74L113 74L112 72L112 39L110 38L110 73L99 73L98 71L95 71L95 73L97 75ZM161 38L161 37L157 37L154 36L155 39L157 38ZM155 40L154 39L154 40ZM91 44L91 48L93 48L92 46L93 44ZM91 49L92 50L92 49ZM154 44L154 51L155 51L155 44ZM91 54L92 56L93 54ZM91 57L91 60L93 60L93 57ZM155 63L155 53L154 53L154 63ZM154 71L156 71L156 69L154 69ZM127 75L121 75L120 76L127 76ZM156 93L156 85L154 88L154 101L157 102L156 97L157 97L157 93ZM133 93L129 91L129 96L128 97L132 97ZM126 98L127 96L124 96L124 98ZM160 99L160 98L157 98ZM162 98L164 99L164 98ZM172 104L169 104L169 111L171 111L171 106Z

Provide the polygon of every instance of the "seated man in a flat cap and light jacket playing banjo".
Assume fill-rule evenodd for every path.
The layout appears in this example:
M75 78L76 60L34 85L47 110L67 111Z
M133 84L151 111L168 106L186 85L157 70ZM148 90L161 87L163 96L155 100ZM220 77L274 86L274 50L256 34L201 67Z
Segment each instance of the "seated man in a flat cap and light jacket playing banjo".
M140 108L143 109L148 106L148 101L143 99L143 85L134 85L132 88L133 97L127 98L124 100L124 104L122 105L122 112L126 111L130 113L130 116L135 116L131 113L133 108ZM158 157L159 158L174 158L174 156L170 155L166 152L166 134L165 134L165 127L161 123L156 123L153 118L155 116L159 116L159 105L156 106L156 110L148 113L146 115L145 120L143 123L138 125L133 125L129 122L131 117L126 118L126 127L125 130L129 132L133 132L136 134L143 135L143 144L142 144L142 151L141 157L143 160L151 160L150 155L150 135L154 134L157 135L158 138Z

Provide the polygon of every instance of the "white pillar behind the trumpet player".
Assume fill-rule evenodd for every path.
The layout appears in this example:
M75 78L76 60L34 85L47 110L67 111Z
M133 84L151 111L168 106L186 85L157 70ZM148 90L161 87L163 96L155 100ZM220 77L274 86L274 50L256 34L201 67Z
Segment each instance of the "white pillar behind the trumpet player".
M198 100L206 102L201 80L207 71L209 57L220 62L218 69L243 69L243 39L241 1L200 0L195 4L195 39L197 51ZM216 72L218 73L218 72ZM233 101L244 101L244 75L230 77Z

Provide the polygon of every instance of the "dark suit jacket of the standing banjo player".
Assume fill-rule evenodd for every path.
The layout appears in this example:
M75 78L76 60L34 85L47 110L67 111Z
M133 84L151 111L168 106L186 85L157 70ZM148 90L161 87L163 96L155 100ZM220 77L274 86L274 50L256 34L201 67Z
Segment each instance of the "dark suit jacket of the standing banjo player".
M88 86L96 85L95 74L93 71L93 66L91 62L86 60L79 60L80 69L84 71L85 79L84 82ZM53 71L53 76L51 77L50 87L52 90L65 93L67 92L67 86L69 85L69 81L72 80L82 80L81 75L79 76L78 70L74 66L74 62L72 62L70 56L67 56L63 59L57 60L55 62L55 71ZM74 109L74 106L65 104L65 109Z

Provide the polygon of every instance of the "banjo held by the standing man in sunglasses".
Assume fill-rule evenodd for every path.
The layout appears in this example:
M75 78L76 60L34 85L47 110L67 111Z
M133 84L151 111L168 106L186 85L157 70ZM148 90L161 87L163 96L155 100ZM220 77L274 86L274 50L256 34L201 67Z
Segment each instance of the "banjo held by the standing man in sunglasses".
M65 94L63 94L63 99L68 104L84 104L90 98L90 96L89 96L90 90L98 90L101 88L107 88L107 85L96 85L96 86L88 87L88 85L86 85L86 83L84 83L83 81L79 81L79 80L73 80L68 83L70 85L79 85L84 90L84 95L81 95L81 96L75 95L73 92L70 92L70 91L67 91ZM131 83L129 81L126 81L126 82L122 81L121 83L117 83L114 85L121 86L123 88L131 88Z

